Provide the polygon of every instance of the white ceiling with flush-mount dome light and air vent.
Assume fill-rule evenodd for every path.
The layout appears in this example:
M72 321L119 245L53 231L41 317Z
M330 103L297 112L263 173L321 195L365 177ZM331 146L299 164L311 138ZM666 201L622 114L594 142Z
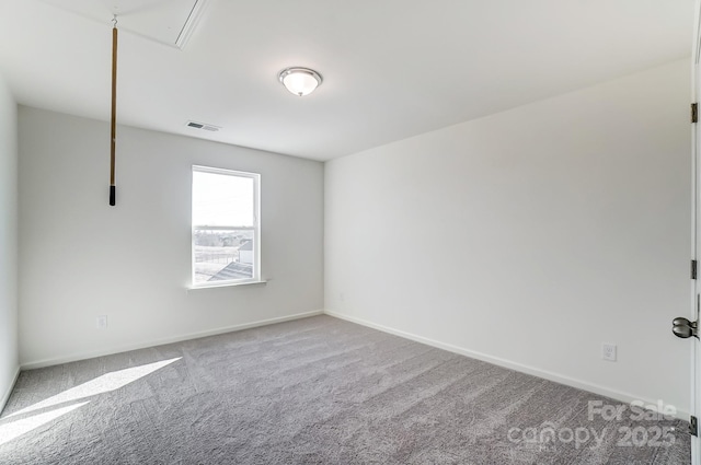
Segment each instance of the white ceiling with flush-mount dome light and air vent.
M330 160L682 59L693 18L693 0L199 1L181 49L168 31L196 0L0 0L0 72L20 104L107 120L117 12L120 124ZM323 84L290 94L289 66Z

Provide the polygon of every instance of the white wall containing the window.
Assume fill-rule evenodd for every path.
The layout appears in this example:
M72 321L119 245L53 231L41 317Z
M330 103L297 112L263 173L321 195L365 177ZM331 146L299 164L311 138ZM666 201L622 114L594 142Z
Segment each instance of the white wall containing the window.
M108 125L19 115L24 367L323 309L321 163L118 127L110 207ZM193 164L261 173L266 284L186 292Z

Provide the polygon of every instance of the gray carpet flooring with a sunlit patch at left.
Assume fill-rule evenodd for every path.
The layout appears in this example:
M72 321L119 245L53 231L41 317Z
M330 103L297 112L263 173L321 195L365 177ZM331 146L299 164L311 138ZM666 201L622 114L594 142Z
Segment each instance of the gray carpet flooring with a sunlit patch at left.
M22 372L0 463L690 463L688 423L639 416L317 316Z

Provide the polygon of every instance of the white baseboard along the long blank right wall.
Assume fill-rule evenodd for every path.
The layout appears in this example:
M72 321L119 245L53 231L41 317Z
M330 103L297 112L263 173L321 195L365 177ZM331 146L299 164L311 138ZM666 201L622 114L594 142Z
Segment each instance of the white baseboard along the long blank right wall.
M355 316L344 315L342 313L336 313L333 311L325 310L324 314L329 316L333 316L336 318L345 319L350 323L357 323L363 326L367 326L374 329L381 330L383 333L389 333L394 336L400 336L406 339L414 340L416 342L422 342L427 346L436 347L438 349L448 350L449 352L459 353L461 356L470 357L473 359L482 360L484 362L489 362L495 365L504 367L509 370L518 371L526 374L532 374L533 376L542 377L549 381L554 381L555 383L564 384L567 386L576 387L582 391L587 391L593 394L598 394L601 396L610 397L616 400L623 402L625 404L630 404L634 400L642 400L645 405L656 405L657 400L646 399L640 396L635 396L629 393L624 393L621 391L612 390L606 386L601 386L594 383L588 383L583 380L577 380L574 377L565 376L562 374L553 373L551 371L541 370L535 367L526 365L522 363L513 362L510 360L502 359L498 357L492 357L486 353L476 352L474 350L466 349L462 347L453 346L451 344L440 342L438 340L429 339L423 336L417 336L415 334L406 333L400 329L394 329L388 326L379 325L377 323L368 322L367 319L357 318ZM685 421L689 420L690 414L688 411L677 410L676 417L680 418Z

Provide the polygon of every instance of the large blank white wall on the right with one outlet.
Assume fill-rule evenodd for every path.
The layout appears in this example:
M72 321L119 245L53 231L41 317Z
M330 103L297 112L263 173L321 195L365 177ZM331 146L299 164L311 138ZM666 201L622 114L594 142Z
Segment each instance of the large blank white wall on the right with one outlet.
M674 62L326 163L326 310L688 411L689 89Z

